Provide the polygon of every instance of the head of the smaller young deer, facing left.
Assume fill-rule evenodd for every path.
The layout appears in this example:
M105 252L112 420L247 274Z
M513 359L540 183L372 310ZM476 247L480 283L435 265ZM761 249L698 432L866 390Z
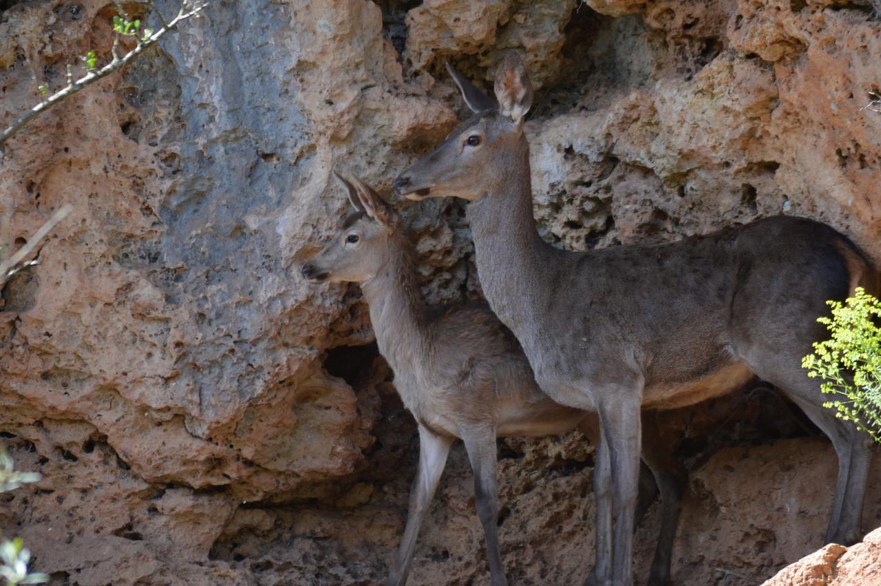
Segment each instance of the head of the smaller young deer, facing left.
M348 191L355 211L301 272L313 283L363 283L374 278L387 260L397 228L397 214L358 177L334 175Z

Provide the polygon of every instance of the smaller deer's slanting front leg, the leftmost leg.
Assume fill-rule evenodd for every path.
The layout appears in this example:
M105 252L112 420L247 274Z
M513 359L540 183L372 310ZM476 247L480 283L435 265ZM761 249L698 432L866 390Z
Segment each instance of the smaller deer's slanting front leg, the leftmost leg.
M387 586L403 586L407 582L419 527L426 517L434 491L441 480L441 472L447 464L447 456L452 444L452 438L433 434L425 427L419 426L419 470L410 491L407 527L403 530L403 539L389 572Z

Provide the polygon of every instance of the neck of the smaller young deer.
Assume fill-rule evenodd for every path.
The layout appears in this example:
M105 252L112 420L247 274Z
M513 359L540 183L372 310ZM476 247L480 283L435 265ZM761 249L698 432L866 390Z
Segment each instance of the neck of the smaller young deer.
M426 302L419 291L413 245L403 236L400 240L389 247L379 274L361 284L370 306L376 344L396 378L414 365L425 363L429 324Z

